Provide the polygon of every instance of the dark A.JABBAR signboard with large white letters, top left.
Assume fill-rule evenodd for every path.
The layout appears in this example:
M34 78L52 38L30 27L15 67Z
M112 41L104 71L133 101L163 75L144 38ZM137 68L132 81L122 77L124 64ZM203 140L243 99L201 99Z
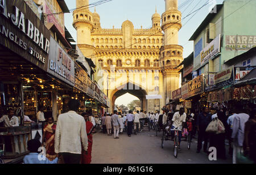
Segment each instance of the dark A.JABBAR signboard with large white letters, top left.
M0 1L0 44L47 71L51 33L22 1Z

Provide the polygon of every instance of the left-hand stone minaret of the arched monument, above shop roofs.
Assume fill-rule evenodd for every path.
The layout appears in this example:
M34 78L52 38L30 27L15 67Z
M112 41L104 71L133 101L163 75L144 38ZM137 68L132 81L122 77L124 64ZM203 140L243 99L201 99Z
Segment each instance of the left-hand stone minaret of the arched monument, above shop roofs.
M76 0L77 10L73 11L73 27L77 31L77 45L85 57L93 59L95 48L92 46L90 34L93 29L93 14L88 5L89 0Z

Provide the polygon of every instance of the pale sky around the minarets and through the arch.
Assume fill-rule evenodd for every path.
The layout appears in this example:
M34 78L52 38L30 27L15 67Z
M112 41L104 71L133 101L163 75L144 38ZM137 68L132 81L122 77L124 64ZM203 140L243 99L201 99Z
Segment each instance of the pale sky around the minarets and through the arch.
M97 2L99 0L89 0L89 3ZM76 8L75 0L65 0L69 9ZM183 46L184 52L183 57L186 58L193 52L193 41L188 41L193 33L196 31L197 27L203 22L205 17L209 14L210 9L216 4L220 4L223 0L178 0L179 7L180 5L186 5L179 8L182 14L181 23L183 27L179 31L179 45ZM201 8L199 11L193 13L201 6L208 3L208 5ZM162 15L165 11L165 1L164 0L113 0L107 3L104 3L96 7L96 12L101 17L101 27L102 28L121 28L122 23L125 20L130 20L134 28L150 28L152 25L151 16L155 13L155 8L157 12ZM94 7L90 8L90 11L94 12ZM65 26L68 31L71 33L73 38L76 41L76 30L73 28L73 16L72 12L65 14ZM127 96L128 97L128 96ZM122 98L119 100L119 104L126 104L134 100L129 97ZM116 103L117 104L117 103Z

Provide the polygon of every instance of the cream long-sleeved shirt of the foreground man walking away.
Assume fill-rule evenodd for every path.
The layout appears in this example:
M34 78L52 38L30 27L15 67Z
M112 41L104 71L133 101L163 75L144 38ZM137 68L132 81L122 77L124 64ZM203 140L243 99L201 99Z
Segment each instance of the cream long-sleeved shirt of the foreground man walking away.
M70 110L60 114L55 131L55 152L81 154L87 151L88 138L84 117Z

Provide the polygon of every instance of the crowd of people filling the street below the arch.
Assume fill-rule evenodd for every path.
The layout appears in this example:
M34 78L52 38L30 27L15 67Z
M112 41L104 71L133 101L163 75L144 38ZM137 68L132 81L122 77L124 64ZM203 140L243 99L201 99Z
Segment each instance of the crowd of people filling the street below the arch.
M102 133L119 139L119 134L127 131L127 135L137 135L148 129L163 131L174 136L173 129L179 129L179 150L182 136L191 132L197 137L197 153L203 150L209 155L209 148L217 149L217 157L226 159L226 140L229 142L229 154L233 155L233 163L256 162L256 108L245 112L241 105L235 105L229 112L225 108L201 108L200 113L191 110L186 114L184 108L168 110L163 113L137 110L129 113L105 113L100 119L92 113L77 114L79 101L73 99L68 103L69 112L60 114L56 125L53 118L43 129L43 140L29 140L30 154L24 157L25 164L89 164L92 160L93 133L100 127ZM228 115L226 115L228 114ZM213 123L217 123L214 128ZM209 146L208 146L209 143ZM39 148L46 149L44 159L38 159Z

